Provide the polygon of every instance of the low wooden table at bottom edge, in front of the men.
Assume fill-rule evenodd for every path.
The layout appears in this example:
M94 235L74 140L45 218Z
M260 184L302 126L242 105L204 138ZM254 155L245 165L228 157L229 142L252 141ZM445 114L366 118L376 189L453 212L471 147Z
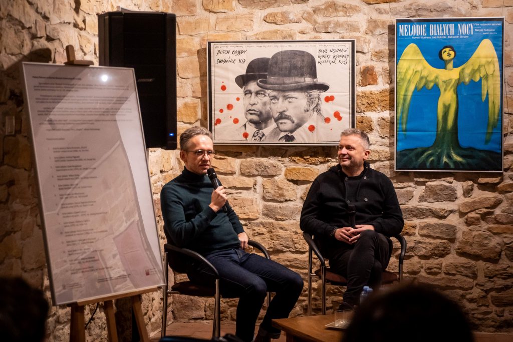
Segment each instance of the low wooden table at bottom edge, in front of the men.
M327 329L334 321L334 314L273 319L272 326L287 335L287 342L340 342L342 330Z

